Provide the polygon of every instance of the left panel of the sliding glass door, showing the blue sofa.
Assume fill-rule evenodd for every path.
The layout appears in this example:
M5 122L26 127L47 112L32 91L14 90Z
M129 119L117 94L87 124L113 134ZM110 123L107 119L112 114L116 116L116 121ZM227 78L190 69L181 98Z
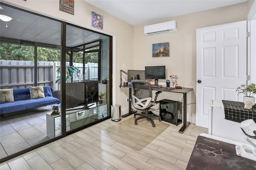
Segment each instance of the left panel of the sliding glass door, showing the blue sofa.
M0 102L8 107L0 117L2 160L61 134L55 133L52 112L54 106L62 112L55 95L61 90L55 81L62 22L4 4L0 13L12 18L8 27L0 21L0 91L12 90L14 99Z

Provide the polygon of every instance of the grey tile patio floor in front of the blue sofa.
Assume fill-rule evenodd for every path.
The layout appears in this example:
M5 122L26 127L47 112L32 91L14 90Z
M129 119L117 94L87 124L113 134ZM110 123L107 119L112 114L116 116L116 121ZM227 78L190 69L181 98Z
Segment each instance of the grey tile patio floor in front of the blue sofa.
M1 115L0 157L49 140L46 136L46 113L51 110L51 106L45 106L18 115Z

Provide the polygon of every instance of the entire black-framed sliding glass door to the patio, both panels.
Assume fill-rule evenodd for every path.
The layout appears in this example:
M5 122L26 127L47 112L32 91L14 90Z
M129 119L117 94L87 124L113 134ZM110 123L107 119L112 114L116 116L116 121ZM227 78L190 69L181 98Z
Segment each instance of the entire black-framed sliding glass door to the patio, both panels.
M12 18L0 21L0 92L14 91L0 102L1 162L110 118L110 36L3 3L0 13Z

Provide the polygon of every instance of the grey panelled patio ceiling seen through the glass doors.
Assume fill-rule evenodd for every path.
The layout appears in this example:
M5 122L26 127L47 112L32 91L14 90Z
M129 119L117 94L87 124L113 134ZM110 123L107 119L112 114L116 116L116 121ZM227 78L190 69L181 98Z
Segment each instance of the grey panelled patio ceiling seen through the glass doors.
M60 45L61 22L0 5L0 14L10 16L11 21L0 21L0 37L38 43ZM76 47L107 36L67 25L66 46Z

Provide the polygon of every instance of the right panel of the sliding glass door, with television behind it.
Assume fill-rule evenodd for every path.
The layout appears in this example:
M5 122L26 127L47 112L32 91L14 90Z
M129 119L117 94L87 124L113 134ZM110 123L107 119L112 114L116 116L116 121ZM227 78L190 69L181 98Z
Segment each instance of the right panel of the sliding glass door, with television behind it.
M66 46L69 59L66 67L72 70L70 81L66 81L66 131L87 127L110 116L106 98L107 86L101 84L102 39L109 37L97 34L92 38L91 31L67 25ZM70 41L72 37L79 37ZM87 37L87 38L86 38ZM109 49L109 47L108 47ZM100 94L104 94L99 98Z

